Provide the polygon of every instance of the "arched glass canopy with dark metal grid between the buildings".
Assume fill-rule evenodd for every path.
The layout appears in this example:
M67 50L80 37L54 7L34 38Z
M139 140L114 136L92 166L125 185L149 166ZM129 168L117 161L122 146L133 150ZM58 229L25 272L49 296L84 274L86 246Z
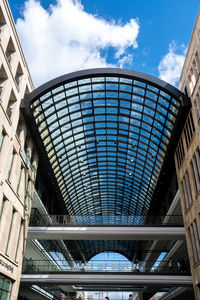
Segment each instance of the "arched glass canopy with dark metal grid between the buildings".
M21 108L68 213L116 216L147 214L189 106L152 76L91 69L42 85Z

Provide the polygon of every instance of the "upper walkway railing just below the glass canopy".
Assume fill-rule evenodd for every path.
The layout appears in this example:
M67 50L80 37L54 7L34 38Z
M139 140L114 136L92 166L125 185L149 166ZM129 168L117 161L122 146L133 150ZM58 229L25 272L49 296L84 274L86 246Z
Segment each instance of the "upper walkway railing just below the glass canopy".
M118 226L183 226L181 215L112 216L112 215L41 215L32 210L29 226L118 225Z

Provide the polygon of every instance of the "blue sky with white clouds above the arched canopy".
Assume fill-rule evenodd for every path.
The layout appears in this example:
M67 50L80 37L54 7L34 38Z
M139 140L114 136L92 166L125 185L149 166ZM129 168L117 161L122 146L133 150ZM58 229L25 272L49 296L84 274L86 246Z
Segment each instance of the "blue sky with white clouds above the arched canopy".
M199 0L9 0L35 87L88 68L177 85Z

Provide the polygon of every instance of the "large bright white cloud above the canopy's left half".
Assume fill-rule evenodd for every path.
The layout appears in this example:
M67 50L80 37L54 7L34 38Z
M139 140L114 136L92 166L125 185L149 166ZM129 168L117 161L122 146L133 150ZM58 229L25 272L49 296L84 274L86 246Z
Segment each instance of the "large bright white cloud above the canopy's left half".
M129 63L127 48L137 48L139 33L137 20L108 22L85 12L80 0L57 0L49 10L29 0L16 26L36 86L80 69ZM101 55L108 47L115 65Z

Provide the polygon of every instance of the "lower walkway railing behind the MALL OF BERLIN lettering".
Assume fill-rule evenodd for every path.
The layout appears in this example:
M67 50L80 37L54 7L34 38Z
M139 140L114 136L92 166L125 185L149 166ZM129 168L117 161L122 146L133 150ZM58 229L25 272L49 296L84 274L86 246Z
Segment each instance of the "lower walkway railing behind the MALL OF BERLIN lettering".
M88 263L74 261L70 267L66 260L27 260L23 261L23 273L60 272L137 272L137 273L180 273L188 274L189 267L174 261L169 267L167 261L139 261L137 264L127 260L95 260Z

